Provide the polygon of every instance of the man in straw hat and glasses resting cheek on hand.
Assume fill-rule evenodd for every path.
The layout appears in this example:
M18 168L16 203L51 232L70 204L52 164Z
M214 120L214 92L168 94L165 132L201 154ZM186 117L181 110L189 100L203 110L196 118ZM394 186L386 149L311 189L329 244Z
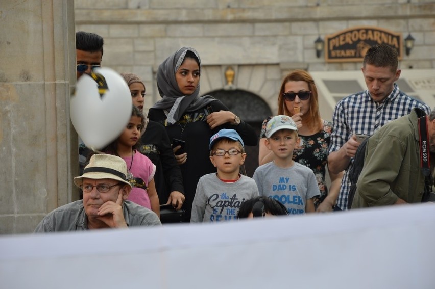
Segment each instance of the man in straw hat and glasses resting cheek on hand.
M83 190L83 200L58 207L44 217L34 232L161 225L150 209L127 200L131 191L127 165L118 156L93 155L74 183Z

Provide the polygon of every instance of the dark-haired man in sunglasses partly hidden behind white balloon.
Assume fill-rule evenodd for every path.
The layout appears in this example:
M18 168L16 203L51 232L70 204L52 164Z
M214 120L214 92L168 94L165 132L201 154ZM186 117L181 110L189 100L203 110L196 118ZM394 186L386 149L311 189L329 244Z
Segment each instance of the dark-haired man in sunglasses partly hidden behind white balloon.
M76 66L77 80L84 73L89 74L92 69L101 67L103 58L104 40L98 34L78 31L76 32ZM80 174L86 163L86 157L90 150L79 139L79 169Z

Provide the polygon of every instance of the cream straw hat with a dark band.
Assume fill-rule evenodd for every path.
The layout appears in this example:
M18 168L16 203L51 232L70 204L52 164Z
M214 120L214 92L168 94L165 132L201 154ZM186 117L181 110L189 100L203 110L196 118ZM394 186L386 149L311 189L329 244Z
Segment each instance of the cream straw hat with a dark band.
M124 182L131 187L127 180L126 162L119 156L111 154L102 153L92 155L89 164L83 170L83 174L74 178L74 183L77 187L83 184L83 178L110 178Z

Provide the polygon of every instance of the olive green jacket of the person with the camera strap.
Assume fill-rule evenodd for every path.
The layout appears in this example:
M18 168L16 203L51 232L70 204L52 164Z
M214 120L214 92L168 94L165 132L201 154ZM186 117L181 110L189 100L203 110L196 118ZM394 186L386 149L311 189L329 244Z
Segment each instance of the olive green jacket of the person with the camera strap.
M424 175L419 140L415 109L384 125L369 139L352 208L392 205L398 198L408 203L421 202ZM430 156L433 175L435 157Z

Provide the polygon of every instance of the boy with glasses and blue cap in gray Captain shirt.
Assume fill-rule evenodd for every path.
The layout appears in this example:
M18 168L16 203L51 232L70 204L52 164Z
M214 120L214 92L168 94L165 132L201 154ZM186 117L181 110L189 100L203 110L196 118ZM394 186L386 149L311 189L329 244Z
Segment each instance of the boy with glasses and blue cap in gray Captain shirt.
M246 153L234 129L219 130L210 138L209 149L218 172L199 179L190 223L234 220L240 204L258 196L255 181L239 173Z

